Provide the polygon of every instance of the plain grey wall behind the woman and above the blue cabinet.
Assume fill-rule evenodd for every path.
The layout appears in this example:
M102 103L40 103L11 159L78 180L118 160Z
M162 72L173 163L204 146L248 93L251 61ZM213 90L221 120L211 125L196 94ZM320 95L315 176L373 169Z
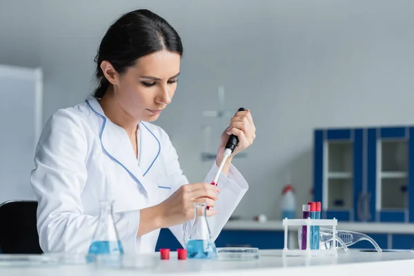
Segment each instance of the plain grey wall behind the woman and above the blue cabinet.
M176 96L157 123L170 133L190 181L203 179L210 166L199 161L200 126L208 122L201 110L216 108L217 86L225 86L230 110L253 112L257 139L248 159L234 162L250 191L235 215L279 217L286 172L298 205L308 201L313 128L414 124L410 0L1 0L0 6L0 63L43 68L45 120L92 91L95 51L121 12L149 8L170 21L185 57Z

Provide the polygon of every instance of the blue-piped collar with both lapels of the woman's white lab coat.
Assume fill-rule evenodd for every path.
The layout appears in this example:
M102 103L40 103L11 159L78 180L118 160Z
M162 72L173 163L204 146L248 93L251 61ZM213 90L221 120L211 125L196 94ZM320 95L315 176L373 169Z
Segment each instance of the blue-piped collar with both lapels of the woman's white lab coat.
M152 165L155 163L161 151L161 144L154 133L141 122L138 128L138 152L139 163L132 150L132 145L124 128L113 124L112 121L106 117L101 105L94 97L86 99L88 106L103 119L101 130L99 132L99 139L103 151L120 166L122 166L131 175L135 181L141 186L144 192L148 195L151 190L148 185L150 181L144 179L145 175L150 171ZM141 146L145 145L145 146Z

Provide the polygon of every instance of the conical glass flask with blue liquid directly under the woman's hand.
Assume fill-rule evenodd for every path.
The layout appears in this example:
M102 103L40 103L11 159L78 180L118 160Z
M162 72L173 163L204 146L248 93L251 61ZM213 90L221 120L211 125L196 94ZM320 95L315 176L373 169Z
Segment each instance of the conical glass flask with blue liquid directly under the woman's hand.
M194 225L187 241L189 259L212 259L217 257L215 243L211 237L206 216L207 204L194 204Z

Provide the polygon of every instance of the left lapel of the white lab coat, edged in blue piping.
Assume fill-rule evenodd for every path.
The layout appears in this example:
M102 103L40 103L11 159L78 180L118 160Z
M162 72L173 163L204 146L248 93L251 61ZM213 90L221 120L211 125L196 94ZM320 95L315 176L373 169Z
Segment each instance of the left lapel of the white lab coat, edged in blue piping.
M110 157L110 159L112 159L112 161L115 161L122 166L148 196L148 192L151 190L150 186L144 181L144 174L138 166L138 160L135 158L132 144L124 128L113 124L105 116L101 105L95 98L88 98L87 102L93 112L103 119L99 133L103 151Z

